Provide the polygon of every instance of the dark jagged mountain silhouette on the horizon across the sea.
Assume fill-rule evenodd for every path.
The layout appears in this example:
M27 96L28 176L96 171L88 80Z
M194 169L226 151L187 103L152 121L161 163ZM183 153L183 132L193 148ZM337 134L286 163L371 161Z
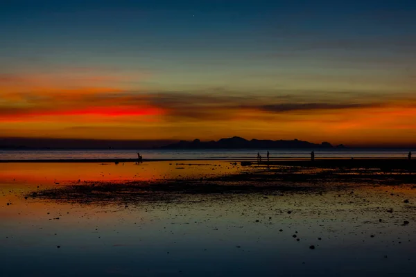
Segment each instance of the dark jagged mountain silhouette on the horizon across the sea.
M343 146L345 147L345 146ZM219 141L200 141L199 139L193 141L180 141L158 147L157 149L261 149L261 148L333 148L331 143L323 142L321 144L310 143L308 141L272 141L252 139L248 141L239 136L232 138L220 139Z

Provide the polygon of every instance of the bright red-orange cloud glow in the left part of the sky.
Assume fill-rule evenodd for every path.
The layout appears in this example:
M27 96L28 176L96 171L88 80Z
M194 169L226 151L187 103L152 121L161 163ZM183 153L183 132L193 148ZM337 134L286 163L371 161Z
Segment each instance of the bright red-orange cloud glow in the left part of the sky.
M0 74L0 123L78 122L79 117L103 121L164 114L142 97L123 95L125 89L132 89L131 84L138 91L137 81L145 76L148 74L85 67Z

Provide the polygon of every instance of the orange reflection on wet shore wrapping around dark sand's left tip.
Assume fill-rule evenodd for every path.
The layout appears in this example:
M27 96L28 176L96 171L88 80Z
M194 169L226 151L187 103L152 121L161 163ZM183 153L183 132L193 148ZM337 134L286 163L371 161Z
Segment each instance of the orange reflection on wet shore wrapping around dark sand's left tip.
M192 164L172 162L149 163L0 163L0 220L25 222L41 220L42 226L54 224L55 217L64 226L77 224L80 217L100 217L101 220L114 220L118 214L103 212L95 207L76 207L57 202L38 202L25 199L27 193L44 188L57 188L73 181L151 181L156 179L177 179L180 177L208 177L236 172L238 167L227 161L192 161ZM55 184L59 183L59 184ZM37 188L39 186L39 188ZM6 206L10 203L10 206ZM27 207L30 206L28 210ZM117 209L117 208L115 208ZM111 208L110 208L111 210ZM101 211L97 214L98 211ZM68 214L69 213L69 214ZM146 213L124 215L146 220ZM28 223L29 224L29 223ZM95 229L95 226L94 226Z

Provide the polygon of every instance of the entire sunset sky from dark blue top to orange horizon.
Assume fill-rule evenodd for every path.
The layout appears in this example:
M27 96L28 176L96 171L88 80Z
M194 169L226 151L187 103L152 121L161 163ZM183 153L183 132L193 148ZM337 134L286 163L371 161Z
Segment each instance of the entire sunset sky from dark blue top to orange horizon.
M0 138L416 145L416 1L1 1Z

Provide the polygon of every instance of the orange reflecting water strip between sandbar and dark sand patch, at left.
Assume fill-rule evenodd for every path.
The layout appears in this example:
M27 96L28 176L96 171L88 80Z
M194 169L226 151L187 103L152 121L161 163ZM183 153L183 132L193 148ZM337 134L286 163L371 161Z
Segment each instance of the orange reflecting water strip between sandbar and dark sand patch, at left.
M195 162L192 164L150 163L3 163L1 185L54 185L73 181L151 181L178 177L221 175L236 169L227 162Z

